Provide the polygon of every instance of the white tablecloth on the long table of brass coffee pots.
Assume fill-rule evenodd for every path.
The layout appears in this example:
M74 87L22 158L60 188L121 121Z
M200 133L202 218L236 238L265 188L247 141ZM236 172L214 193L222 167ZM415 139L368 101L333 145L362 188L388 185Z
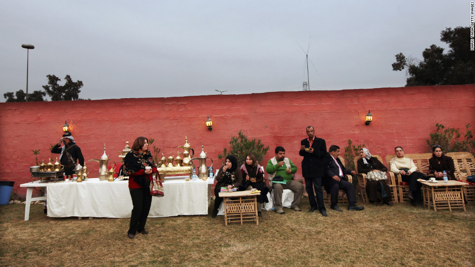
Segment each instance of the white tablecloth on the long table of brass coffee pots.
M165 196L152 198L148 217L208 214L207 185L203 180L165 180ZM89 178L81 183L49 183L47 188L49 217L130 218L132 212L127 180L108 182Z

